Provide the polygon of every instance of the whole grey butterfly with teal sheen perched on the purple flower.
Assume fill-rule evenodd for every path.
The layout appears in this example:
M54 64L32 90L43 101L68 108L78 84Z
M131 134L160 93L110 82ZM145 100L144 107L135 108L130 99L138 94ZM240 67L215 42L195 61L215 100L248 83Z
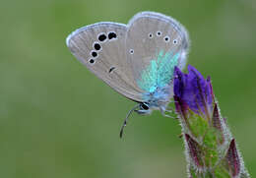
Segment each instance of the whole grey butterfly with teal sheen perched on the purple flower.
M183 69L189 48L187 30L155 12L136 14L128 25L101 22L75 30L66 38L71 53L96 77L137 102L128 112L169 111L174 67Z

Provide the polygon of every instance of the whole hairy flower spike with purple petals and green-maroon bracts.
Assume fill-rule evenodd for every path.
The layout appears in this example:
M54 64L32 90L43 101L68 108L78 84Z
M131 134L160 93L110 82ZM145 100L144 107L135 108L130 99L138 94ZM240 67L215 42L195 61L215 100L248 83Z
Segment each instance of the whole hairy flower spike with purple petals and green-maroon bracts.
M249 178L221 115L210 78L204 79L192 66L188 66L187 74L176 67L173 92L184 136L189 178Z

